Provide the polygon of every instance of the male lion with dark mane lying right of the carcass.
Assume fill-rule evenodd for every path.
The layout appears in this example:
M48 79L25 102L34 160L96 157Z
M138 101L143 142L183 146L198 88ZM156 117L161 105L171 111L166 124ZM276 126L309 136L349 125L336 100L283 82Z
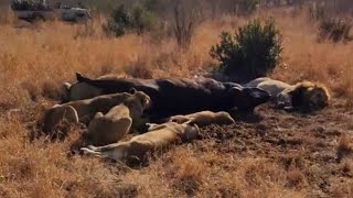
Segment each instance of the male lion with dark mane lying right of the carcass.
M256 78L245 87L257 87L267 90L276 107L302 111L314 111L329 106L331 96L328 88L311 81L289 85L268 77Z

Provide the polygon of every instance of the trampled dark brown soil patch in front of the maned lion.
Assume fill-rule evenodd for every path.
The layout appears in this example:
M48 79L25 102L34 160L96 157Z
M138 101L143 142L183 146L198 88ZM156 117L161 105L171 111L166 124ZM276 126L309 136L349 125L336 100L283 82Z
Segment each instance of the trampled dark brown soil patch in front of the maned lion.
M234 125L202 129L202 140L195 142L194 150L200 154L216 151L239 162L252 157L269 160L287 174L300 173L287 175L285 187L304 183L309 196L351 196L352 187L350 194L338 193L341 184L353 179L352 169L342 168L342 162L352 160L352 153L341 154L338 148L340 140L353 135L353 111L341 102L334 100L332 107L312 114L287 113L264 106ZM352 168L352 164L346 166Z

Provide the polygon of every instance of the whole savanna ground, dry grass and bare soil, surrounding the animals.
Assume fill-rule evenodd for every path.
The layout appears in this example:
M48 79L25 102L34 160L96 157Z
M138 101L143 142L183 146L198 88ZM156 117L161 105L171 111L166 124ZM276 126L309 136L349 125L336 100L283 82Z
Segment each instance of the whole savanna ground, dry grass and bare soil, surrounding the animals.
M75 72L156 78L207 69L220 31L233 31L248 18L204 21L189 50L153 34L107 38L99 20L19 28L7 19L0 25L0 196L353 197L352 43L318 43L317 24L300 13L259 14L275 16L282 34L285 64L271 76L323 82L331 106L297 114L265 105L246 119L235 116L234 125L202 129L201 140L173 146L141 167L71 155L77 127L64 141L33 140L35 121L57 103L57 89Z

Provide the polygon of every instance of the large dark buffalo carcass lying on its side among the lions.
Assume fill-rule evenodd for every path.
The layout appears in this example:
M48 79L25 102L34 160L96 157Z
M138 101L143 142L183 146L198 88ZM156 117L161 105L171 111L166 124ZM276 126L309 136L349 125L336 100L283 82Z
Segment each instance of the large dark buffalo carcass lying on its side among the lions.
M259 88L245 88L234 82L221 82L211 78L159 79L92 79L76 73L77 81L67 85L64 101L87 99L98 95L126 92L131 88L150 96L150 118L167 118L197 111L250 112L269 100L270 95Z

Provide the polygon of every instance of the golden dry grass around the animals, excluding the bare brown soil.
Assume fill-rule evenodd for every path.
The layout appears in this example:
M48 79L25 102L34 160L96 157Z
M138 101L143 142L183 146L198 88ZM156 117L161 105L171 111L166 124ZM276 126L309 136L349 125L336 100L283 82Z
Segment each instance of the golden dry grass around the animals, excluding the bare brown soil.
M285 66L272 76L288 82L321 81L334 97L352 105L352 44L317 43L317 29L303 15L277 13L275 18L282 32ZM220 31L233 31L247 20L224 16L202 23L189 50L179 48L172 37L158 41L153 34L107 38L99 21L87 26L1 23L0 196L210 197L216 193L225 197L303 197L308 185L303 173L287 172L267 158L216 152L196 157L196 151L184 146L149 167L131 169L71 156L69 144L79 135L74 129L64 142L30 142L31 132L38 130L32 122L43 107L56 102L51 99L57 99L63 81L74 80L75 72L92 77L110 73L145 78L191 76L191 72L213 65L208 51L218 41ZM339 193L341 188L352 194L349 185L341 186Z

